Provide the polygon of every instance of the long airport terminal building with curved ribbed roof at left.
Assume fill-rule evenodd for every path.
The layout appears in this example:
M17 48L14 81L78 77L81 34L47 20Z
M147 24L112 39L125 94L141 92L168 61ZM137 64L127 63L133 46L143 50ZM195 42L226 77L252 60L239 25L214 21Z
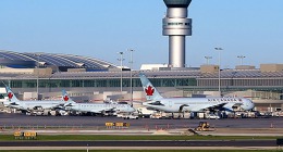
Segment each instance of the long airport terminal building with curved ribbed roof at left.
M35 98L37 91L40 99L60 97L61 90L65 89L76 100L94 102L112 98L127 101L133 89L133 100L145 100L139 73L144 73L165 97L219 96L220 80L224 97L249 98L261 111L274 112L283 107L283 64L261 64L259 68L239 65L221 71L218 65L201 65L131 72L110 62L81 55L0 51L0 78L22 99Z

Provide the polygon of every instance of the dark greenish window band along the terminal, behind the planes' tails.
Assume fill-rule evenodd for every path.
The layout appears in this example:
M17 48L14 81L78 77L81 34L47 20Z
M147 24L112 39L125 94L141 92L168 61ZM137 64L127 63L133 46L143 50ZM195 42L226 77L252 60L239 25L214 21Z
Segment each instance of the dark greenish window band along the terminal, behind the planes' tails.
M120 78L98 79L39 79L39 88L69 88L69 87L121 87ZM11 88L36 88L36 79L9 80ZM156 87L196 86L196 78L150 78ZM130 78L123 78L123 87L130 87ZM139 78L133 78L133 87L142 87Z

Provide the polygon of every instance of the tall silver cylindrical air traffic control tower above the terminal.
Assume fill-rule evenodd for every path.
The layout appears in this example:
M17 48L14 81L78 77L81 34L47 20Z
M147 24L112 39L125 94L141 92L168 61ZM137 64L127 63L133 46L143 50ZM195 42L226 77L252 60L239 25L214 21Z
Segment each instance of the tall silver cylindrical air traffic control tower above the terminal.
M163 36L169 36L169 66L185 67L186 36L192 36L192 18L187 8L192 0L163 0L167 15L163 18Z

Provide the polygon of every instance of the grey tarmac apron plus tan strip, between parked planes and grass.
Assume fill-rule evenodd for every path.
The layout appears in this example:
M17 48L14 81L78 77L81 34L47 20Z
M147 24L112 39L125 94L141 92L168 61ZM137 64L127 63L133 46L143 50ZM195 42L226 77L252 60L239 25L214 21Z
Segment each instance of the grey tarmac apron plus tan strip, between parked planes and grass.
M208 122L213 131L201 135L217 136L283 136L283 117L225 118L225 119L123 119L113 116L28 116L0 113L1 132L37 130L40 134L126 134L176 135L189 134L199 122ZM106 123L128 123L130 127L115 129Z

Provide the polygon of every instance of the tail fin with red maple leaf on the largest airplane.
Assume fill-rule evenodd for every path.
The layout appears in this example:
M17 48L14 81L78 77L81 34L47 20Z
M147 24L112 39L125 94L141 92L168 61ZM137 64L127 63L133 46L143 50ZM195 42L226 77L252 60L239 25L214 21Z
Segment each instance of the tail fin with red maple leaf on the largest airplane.
M155 86L149 81L149 79L144 74L139 74L139 78L140 78L144 91L146 93L147 100L162 99L162 97L157 91Z

